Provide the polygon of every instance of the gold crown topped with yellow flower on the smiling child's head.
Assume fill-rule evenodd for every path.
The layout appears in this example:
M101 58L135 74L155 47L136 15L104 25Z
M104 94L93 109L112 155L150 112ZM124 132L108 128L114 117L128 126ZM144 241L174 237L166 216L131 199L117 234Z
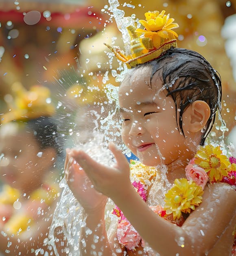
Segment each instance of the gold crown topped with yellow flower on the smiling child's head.
M157 59L170 48L177 47L175 31L179 27L173 23L174 19L170 15L165 15L165 11L145 13L146 21L139 20L144 29L137 29L135 26L128 26L130 35L131 55L125 55L118 46L105 44L114 52L116 58L125 62L128 68ZM141 35L140 35L141 34Z

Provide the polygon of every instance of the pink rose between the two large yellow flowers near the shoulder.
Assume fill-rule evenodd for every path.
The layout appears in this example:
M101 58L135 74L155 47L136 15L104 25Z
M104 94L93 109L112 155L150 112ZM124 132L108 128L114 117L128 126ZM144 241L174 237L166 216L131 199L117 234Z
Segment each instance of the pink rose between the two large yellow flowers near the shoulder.
M208 174L203 168L189 163L185 168L185 172L188 180L194 181L204 189L205 184L208 182Z

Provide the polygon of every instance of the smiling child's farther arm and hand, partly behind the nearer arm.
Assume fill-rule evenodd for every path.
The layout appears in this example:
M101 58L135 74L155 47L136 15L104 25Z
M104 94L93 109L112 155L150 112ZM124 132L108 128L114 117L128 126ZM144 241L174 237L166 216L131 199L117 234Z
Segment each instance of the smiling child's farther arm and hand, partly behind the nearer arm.
M122 255L123 250L111 239L108 241L105 230L104 211L107 196L98 193L92 188L92 183L85 172L80 168L74 159L68 157L70 150L67 150L65 162L65 173L67 183L75 198L79 201L87 214L86 227L81 229L80 248L82 255L93 255L92 252L101 252L102 255ZM117 250L118 249L118 250ZM96 255L97 255L96 254Z

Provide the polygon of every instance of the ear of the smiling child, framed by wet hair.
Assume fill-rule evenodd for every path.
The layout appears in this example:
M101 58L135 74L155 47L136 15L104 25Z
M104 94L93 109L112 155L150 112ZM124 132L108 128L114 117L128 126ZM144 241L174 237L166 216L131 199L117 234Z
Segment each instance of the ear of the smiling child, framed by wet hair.
M183 113L185 129L190 132L198 132L207 123L210 117L209 105L202 101L194 101Z

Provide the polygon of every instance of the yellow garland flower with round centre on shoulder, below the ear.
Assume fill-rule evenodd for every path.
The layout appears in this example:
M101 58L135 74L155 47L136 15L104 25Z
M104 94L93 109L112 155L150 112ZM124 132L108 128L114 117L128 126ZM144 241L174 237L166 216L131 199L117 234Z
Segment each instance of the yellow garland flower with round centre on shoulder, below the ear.
M212 145L200 146L200 149L194 156L194 163L203 168L209 176L210 182L218 182L229 172L230 162L222 154L220 146Z

